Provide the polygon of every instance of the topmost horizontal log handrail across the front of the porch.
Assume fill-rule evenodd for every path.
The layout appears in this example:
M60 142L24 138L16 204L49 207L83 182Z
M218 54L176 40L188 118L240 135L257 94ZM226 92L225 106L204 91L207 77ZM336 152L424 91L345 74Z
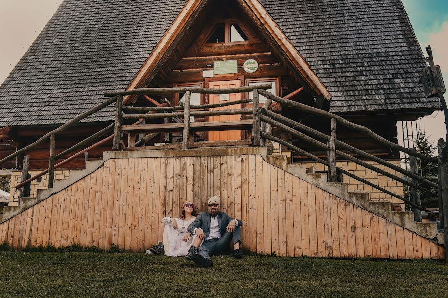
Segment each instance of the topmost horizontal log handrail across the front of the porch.
M190 91L191 93L201 94L228 94L249 92L254 89L271 89L271 83L254 84L250 86L234 87L234 88L203 88L203 87L176 87L176 88L138 88L126 91L105 92L105 97L117 95L134 95L134 94L160 94L160 93L184 93Z

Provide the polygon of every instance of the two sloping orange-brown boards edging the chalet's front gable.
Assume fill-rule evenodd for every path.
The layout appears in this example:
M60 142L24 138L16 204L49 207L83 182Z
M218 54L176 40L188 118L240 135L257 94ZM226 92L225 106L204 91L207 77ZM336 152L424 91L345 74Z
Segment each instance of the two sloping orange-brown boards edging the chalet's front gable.
M159 65L166 61L170 54L170 48L177 41L184 28L189 25L200 13L208 0L188 0L179 15L171 24L165 35L151 52L150 56L140 68L137 75L131 81L126 90L141 87L148 79L151 80L157 73ZM317 77L305 59L300 55L294 45L278 27L273 18L266 12L257 0L237 0L247 14L255 21L263 31L269 34L270 39L275 42L283 52L289 62L299 71L303 80L318 94L327 100L331 99L331 94L322 81ZM125 99L126 101L128 99Z

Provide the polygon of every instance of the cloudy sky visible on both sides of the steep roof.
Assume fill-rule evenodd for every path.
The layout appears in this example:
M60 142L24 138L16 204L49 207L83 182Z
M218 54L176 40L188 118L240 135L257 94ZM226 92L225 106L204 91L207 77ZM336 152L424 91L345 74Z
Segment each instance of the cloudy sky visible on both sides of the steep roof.
M0 0L0 82L6 79L61 2ZM435 63L442 67L447 82L448 0L403 0L403 3L422 48L431 44ZM432 140L437 140L445 135L443 122L443 113L436 112L418 121L418 126Z

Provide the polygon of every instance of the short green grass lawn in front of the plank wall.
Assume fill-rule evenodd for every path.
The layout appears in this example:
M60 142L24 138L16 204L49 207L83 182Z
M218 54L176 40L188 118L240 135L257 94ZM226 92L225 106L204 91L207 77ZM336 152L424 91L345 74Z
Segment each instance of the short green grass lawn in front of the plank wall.
M435 261L0 252L0 297L448 297Z

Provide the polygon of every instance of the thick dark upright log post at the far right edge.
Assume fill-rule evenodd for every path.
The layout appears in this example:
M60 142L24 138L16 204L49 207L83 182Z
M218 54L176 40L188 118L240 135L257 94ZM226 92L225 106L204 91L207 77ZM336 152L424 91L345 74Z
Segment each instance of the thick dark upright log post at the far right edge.
M439 152L439 177L437 181L439 184L439 191L442 193L442 204L439 205L439 217L441 219L443 218L445 262L448 262L448 158L445 146L446 144L444 140L439 139L437 142L437 150Z

